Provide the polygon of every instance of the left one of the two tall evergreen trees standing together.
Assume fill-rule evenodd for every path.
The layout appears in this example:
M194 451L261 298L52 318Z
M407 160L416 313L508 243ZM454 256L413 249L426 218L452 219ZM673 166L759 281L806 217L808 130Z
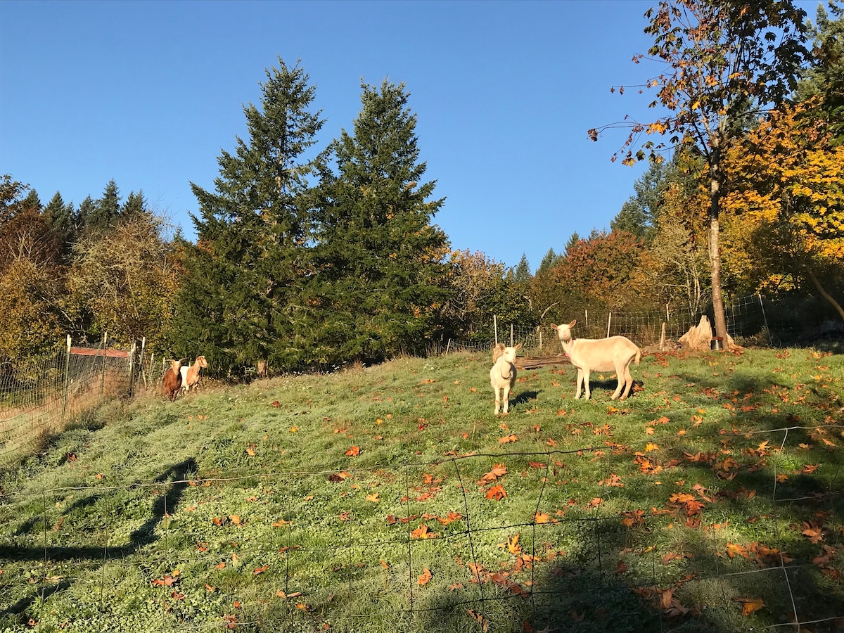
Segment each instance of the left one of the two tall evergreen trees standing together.
M322 127L315 88L299 63L266 70L259 106L244 107L249 138L220 154L216 191L192 183L200 216L187 247L187 279L177 302L176 351L203 353L221 369L289 368L300 285L310 273L306 154ZM198 350L202 349L202 352Z

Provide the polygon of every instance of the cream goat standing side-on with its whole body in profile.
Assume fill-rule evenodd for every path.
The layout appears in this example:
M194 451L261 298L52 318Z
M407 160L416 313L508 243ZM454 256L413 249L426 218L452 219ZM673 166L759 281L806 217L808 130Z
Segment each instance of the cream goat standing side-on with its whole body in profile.
M560 337L565 355L571 359L571 365L577 368L577 391L575 399L580 398L581 386L585 388L586 399L591 396L589 391L589 372L591 371L615 371L619 378L619 386L615 387L612 399L619 397L627 398L630 387L633 387L633 376L630 376L630 363L634 360L639 365L641 360L641 349L623 336L611 336L609 338L571 338L571 328L575 327L576 321L568 325L555 325L551 323ZM624 393L621 392L622 386Z

